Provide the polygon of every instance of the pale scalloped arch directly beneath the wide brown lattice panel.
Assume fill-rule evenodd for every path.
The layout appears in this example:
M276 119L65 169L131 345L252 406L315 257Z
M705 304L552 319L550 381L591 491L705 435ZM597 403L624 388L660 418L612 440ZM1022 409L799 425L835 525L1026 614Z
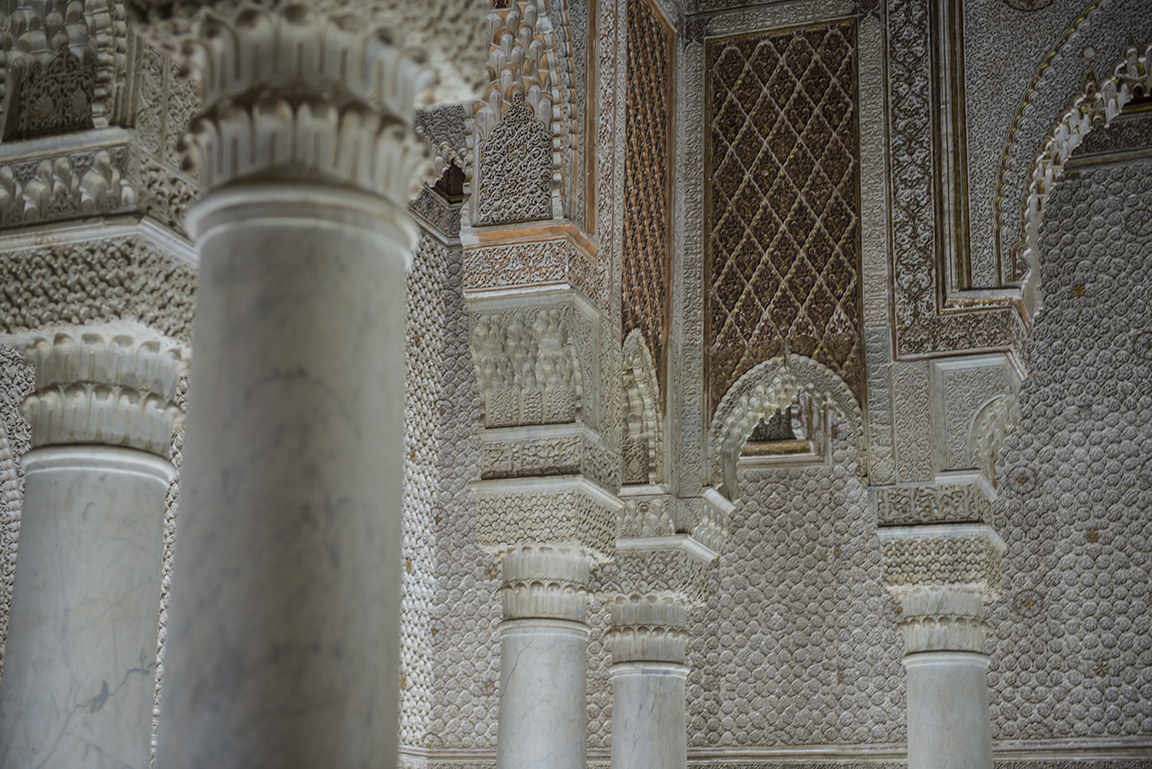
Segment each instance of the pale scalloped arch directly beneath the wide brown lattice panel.
M776 409L790 409L801 393L812 398L817 411L832 411L848 427L857 447L864 447L864 417L856 396L840 376L823 364L795 353L759 364L732 386L708 428L708 478L712 487L729 500L738 495L736 462L749 435L761 419ZM859 463L863 474L866 462Z

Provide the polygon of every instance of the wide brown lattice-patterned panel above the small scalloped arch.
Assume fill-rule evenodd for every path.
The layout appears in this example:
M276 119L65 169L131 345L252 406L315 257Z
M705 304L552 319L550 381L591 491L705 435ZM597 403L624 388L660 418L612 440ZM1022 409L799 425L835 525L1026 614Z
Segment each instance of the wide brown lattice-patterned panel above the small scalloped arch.
M710 413L788 349L862 395L856 23L711 40Z

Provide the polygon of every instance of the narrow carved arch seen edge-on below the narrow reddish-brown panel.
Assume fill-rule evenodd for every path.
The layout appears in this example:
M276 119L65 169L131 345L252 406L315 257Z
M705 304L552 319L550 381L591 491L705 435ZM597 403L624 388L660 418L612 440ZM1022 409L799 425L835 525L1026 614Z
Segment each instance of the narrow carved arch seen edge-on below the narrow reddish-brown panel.
M664 480L664 414L655 363L644 335L634 329L624 340L623 482Z

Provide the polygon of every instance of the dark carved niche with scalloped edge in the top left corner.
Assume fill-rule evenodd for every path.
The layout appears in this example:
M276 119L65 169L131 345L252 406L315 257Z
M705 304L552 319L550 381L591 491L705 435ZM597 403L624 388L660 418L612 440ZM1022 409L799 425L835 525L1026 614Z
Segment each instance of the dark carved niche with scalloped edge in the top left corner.
M0 20L0 125L31 138L123 124L122 0L18 0Z

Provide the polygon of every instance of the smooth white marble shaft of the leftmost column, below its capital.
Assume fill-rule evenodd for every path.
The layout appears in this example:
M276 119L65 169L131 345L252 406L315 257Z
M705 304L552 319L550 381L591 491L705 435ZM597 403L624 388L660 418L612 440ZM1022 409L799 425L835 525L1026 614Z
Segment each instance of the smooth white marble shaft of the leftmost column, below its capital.
M77 446L22 464L0 767L147 769L172 463Z

